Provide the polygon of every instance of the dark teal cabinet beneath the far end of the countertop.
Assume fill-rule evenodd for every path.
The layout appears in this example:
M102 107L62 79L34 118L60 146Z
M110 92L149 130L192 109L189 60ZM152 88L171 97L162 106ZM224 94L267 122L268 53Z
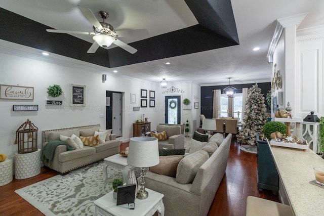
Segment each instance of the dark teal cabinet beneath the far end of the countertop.
M259 138L259 136L257 136ZM267 189L272 194L277 195L279 191L279 176L277 168L273 162L270 147L267 141L257 140L258 145L258 170L257 181L258 190Z

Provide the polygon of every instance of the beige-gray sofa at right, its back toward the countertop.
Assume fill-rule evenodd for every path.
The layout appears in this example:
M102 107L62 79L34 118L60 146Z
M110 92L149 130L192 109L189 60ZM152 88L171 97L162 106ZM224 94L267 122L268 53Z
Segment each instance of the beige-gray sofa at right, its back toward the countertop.
M216 138L216 139L215 139ZM221 134L213 135L207 145L200 150L184 156L182 160L191 163L180 172L184 164L179 162L176 178L148 171L145 176L145 187L164 194L165 215L203 216L207 215L218 187L225 175L232 135L225 139ZM218 144L215 150L213 142ZM221 142L222 141L222 142ZM201 162L201 160L205 162ZM200 164L201 165L200 165ZM181 164L181 168L179 168ZM197 165L199 164L199 165ZM193 181L181 184L186 175L192 175ZM180 176L183 175L183 176Z

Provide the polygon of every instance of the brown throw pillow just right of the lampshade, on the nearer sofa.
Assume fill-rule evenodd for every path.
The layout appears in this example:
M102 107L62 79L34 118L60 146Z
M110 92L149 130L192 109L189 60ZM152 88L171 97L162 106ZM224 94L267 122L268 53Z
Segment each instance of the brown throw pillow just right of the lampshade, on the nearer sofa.
M184 155L159 156L160 162L150 167L150 171L159 175L170 176L175 178L177 166Z

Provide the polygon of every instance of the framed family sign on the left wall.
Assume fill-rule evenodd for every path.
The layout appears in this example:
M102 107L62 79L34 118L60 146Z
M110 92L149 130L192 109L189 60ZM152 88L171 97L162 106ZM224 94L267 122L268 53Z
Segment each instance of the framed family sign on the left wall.
M34 100L34 88L0 84L0 99Z

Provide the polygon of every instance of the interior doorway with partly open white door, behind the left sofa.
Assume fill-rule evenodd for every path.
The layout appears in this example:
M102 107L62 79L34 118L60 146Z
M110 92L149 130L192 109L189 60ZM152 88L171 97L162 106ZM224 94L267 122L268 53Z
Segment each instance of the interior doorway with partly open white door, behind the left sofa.
M113 134L116 137L123 136L123 132L121 131L122 124L122 112L121 107L122 104L121 98L123 97L123 93L121 92L111 92L106 91L106 129L112 129Z

